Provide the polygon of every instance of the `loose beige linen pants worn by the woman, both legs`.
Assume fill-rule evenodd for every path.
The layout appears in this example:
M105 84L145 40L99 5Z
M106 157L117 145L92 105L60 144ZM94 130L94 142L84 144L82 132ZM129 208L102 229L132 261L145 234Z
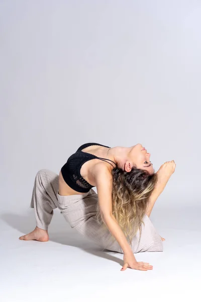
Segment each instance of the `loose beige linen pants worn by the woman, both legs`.
M34 208L36 225L47 230L53 216L53 210L59 208L61 214L84 237L95 242L99 247L123 254L119 243L109 240L108 229L100 230L96 222L97 194L93 189L84 194L61 196L58 193L59 176L47 169L40 170L35 178L30 208ZM132 240L133 253L162 252L163 242L147 215L143 218L142 232L138 231ZM109 243L108 243L109 242Z

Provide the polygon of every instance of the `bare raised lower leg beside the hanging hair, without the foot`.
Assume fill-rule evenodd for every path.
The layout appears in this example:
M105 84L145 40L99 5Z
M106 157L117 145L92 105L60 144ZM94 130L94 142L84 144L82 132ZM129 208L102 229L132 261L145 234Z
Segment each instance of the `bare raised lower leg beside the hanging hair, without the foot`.
M149 204L148 204L147 212L146 212L148 217L151 214L151 211L153 209L153 206L154 206L158 196L163 192L168 180L169 180L169 177L158 175L158 181L149 198Z

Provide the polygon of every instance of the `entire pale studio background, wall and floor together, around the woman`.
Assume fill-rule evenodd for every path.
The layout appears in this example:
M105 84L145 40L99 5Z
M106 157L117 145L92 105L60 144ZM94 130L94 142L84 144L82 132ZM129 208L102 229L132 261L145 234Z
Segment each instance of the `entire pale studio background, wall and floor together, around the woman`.
M137 293L141 301L167 294L174 301L170 288L175 300L196 293L190 285L201 269L200 14L198 0L0 1L3 301L59 294L65 301L124 294L135 300ZM142 143L156 171L176 163L151 214L166 238L164 252L136 256L153 271L120 272L108 254L85 254L88 245L57 210L49 242L18 239L35 228L29 205L36 173L59 173L82 143L93 141Z

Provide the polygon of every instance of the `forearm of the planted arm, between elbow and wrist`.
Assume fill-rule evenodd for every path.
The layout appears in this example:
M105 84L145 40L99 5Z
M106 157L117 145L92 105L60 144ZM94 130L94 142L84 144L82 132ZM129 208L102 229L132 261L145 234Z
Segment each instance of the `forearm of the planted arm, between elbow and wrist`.
M113 214L103 217L104 223L107 225L111 234L115 237L120 247L122 248L124 254L133 254L133 251L124 235L122 229L120 228L117 219ZM133 255L134 256L134 255Z

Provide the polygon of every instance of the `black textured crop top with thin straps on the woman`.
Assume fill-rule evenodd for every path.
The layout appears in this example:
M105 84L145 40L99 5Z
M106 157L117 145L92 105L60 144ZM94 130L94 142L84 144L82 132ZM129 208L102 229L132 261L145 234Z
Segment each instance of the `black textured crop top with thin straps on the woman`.
M61 174L65 182L75 191L80 193L88 192L92 187L81 175L80 169L82 165L90 160L99 159L102 161L111 161L109 159L99 158L93 154L89 154L83 152L82 149L91 146L91 145L99 145L103 147L110 148L109 146L102 145L100 143L88 142L82 144L75 153L73 153L65 163L65 165L61 168ZM111 161L113 162L113 161ZM108 163L108 162L107 162ZM116 163L113 162L115 165ZM109 163L111 164L111 163ZM112 165L112 164L111 164ZM113 165L112 165L113 166ZM114 166L113 166L114 167Z

